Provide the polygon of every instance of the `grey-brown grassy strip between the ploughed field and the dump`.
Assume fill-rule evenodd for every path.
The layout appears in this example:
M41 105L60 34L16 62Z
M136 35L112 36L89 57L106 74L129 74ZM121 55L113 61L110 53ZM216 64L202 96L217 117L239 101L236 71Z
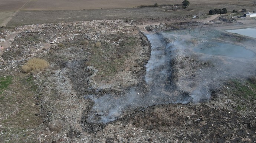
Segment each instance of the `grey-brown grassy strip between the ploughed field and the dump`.
M170 7L146 7L146 8L110 8L94 10L22 10L17 12L7 26L30 25L39 23L59 23L72 21L91 21L109 19L137 19L137 18L158 18L172 16L187 16L207 14L210 9L226 7L230 13L233 9L255 11L253 6L237 6L227 3L216 4L191 4L186 10L170 11Z

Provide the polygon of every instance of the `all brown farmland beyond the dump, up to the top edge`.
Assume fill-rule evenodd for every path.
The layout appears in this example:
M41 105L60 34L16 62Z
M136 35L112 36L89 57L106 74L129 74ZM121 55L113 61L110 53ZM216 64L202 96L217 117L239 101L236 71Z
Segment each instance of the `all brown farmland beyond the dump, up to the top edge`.
M80 11L58 11L55 10L92 10L92 9L108 9L108 8L135 8L140 5L152 5L154 3L158 4L179 4L182 3L181 0L0 0L0 26L6 26L7 23L14 17L14 19L18 18L14 21L21 22L21 25L24 24L34 24L34 23L42 23L45 22L60 22L60 21L83 21L83 20L102 20L102 19L114 19L114 18L142 18L142 17L150 17L150 16L166 16L168 14L189 14L189 12L181 11L181 13L173 12L173 13L164 13L162 15L163 10L156 9L155 11L152 11L154 14L148 14L146 11L115 11L111 14L106 14L105 11L97 11L95 10L92 15L88 15L87 13L91 13L91 11L83 11L83 14L80 14ZM229 7L232 7L234 9L239 8L245 8L246 6L252 6L253 4L252 0L244 0L244 1L230 1L230 0L217 0L217 1L210 1L210 0L190 0L190 7L193 10L193 13L191 14L197 14L198 11L202 10L205 13L207 13L209 10L209 7L211 8L221 8L226 5L229 5ZM246 8L247 9L247 8ZM250 8L249 8L250 9ZM54 12L53 12L54 10ZM122 9L123 10L123 9ZM230 9L228 9L230 10ZM150 10L151 11L151 10ZM18 13L21 12L21 13ZM143 12L146 12L142 14ZM48 15L50 13L51 15ZM71 15L70 15L71 13ZM77 14L72 14L77 13ZM107 12L109 13L109 11ZM158 14L157 14L158 13ZM18 14L18 16L16 15ZM96 14L96 15L95 15ZM123 15L124 14L124 15ZM148 14L148 15L147 15ZM44 18L44 15L46 15L47 18ZM59 15L62 15L60 17ZM92 17L92 18L77 18L81 17L81 15L86 15L86 17ZM121 15L121 16L118 16ZM140 16L141 15L141 16ZM20 17L23 17L23 20L20 20ZM41 18L42 17L42 18ZM70 18L69 18L70 17ZM75 18L74 18L75 17ZM27 19L29 18L29 19ZM63 19L63 20L60 20ZM24 21L27 21L24 23ZM19 25L19 23L15 22L15 24L10 25Z

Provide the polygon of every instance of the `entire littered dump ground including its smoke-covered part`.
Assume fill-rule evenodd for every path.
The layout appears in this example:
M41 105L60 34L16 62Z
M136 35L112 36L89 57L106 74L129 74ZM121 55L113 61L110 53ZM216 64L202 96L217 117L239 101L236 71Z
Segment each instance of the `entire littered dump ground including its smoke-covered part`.
M145 26L154 33L142 23L2 28L0 80L10 84L0 90L0 140L255 142L255 56L197 51L217 42L256 53L255 39L214 28L242 23ZM50 67L23 73L32 57Z

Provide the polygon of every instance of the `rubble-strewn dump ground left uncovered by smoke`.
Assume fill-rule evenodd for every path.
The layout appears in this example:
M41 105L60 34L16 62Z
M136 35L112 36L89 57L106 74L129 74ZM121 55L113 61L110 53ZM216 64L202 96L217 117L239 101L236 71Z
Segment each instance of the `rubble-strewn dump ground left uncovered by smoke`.
M1 28L1 142L255 142L254 76L250 80L230 76L209 88L210 98L203 102L129 107L114 121L89 120L95 104L90 95L119 98L135 88L143 98L150 90L145 83L145 65L151 45L136 26L144 21L150 20ZM174 22L145 29L161 32L239 24L219 17L206 23ZM255 39L222 36L229 41L255 43ZM57 42L50 44L54 40ZM172 42L168 38L164 41ZM197 42L185 40L187 45ZM168 64L172 72L167 83L176 87L172 94L188 97L203 79L198 70L219 70L216 62L202 60L191 51L175 52ZM24 73L21 67L32 57L47 60L50 67L39 73Z

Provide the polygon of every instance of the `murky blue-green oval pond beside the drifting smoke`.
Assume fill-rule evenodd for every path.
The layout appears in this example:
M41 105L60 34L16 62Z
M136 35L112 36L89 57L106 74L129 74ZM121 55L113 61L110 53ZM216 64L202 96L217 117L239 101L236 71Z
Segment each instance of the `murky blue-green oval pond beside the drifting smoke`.
M242 46L220 42L205 42L203 44L199 44L194 51L208 55L238 58L252 58L255 56L255 53L252 50L246 49Z

